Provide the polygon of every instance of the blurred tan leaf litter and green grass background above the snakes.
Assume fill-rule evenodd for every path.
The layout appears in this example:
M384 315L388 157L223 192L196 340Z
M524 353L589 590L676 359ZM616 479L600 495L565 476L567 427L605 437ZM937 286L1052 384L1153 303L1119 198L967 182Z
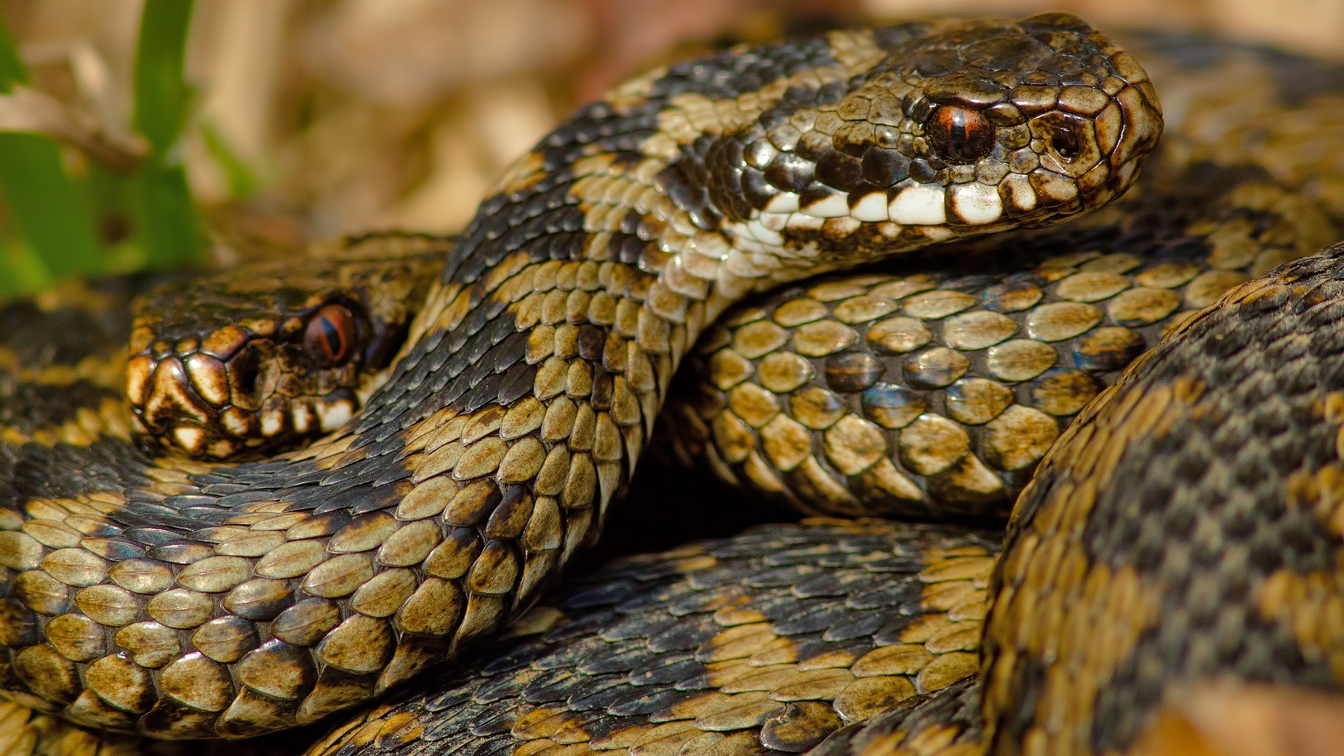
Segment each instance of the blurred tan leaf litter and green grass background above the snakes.
M454 231L505 164L641 69L835 23L1047 9L1344 55L1340 0L0 0L0 296Z

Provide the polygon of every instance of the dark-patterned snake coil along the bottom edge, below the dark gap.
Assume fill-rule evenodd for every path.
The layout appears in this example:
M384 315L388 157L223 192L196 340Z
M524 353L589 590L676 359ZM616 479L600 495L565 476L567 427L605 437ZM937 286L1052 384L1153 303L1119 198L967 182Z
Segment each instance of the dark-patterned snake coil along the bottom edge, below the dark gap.
M468 739L513 753L801 752L974 673L985 545L809 521L617 561L534 609L485 670L395 697L309 753Z

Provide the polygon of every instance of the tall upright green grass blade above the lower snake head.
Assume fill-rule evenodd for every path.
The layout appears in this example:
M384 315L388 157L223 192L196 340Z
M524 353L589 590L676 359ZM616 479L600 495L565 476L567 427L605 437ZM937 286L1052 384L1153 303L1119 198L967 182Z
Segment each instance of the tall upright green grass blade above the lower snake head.
M179 141L191 97L183 79L191 9L191 0L146 0L136 50L132 121L151 145L136 176L137 214L145 261L160 269L196 260L206 241Z

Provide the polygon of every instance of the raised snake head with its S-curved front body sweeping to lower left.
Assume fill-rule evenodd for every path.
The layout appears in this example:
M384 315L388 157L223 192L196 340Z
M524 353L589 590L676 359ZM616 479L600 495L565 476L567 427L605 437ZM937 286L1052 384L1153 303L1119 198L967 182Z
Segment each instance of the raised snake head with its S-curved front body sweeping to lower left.
M620 87L482 203L341 429L233 465L114 436L20 449L4 687L167 739L378 695L496 634L598 537L681 354L731 303L1099 206L1160 129L1142 69L1064 15L835 32ZM324 312L314 339L339 350L324 334L347 317ZM223 405L180 375L227 358L212 344L132 344L137 417L190 452L228 451L194 430ZM243 367L230 401L261 404L265 432L249 386L269 383Z

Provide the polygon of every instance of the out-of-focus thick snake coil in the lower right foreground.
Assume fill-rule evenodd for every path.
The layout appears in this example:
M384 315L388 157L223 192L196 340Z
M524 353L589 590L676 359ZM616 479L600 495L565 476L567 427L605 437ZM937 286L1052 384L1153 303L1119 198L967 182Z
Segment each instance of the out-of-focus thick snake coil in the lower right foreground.
M1321 326L1337 319L1341 252L1187 320L1051 451L1019 502L986 626L999 751L1128 749L1163 691L1206 678L1339 690L1327 607L1344 605L1344 398ZM1103 642L1083 642L1097 631Z

